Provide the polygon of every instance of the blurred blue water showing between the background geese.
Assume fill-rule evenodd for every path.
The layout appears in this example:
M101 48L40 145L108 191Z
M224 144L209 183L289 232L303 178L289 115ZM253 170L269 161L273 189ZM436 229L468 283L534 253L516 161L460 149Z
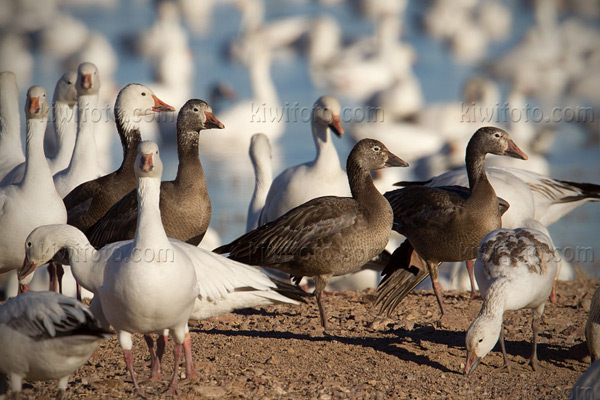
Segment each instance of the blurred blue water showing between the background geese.
M298 14L316 16L325 13L337 18L349 38L367 35L372 29L370 21L346 4L325 7L310 1L269 0L266 3L267 20ZM119 55L119 68L115 80L121 86L130 82L152 80L148 63L130 53L123 45L124 37L147 29L152 23L155 15L152 4L150 1L122 0L117 8L71 6L65 9L85 22L90 29L103 33L109 39ZM426 101L457 101L465 80L473 73L481 72L481 69L455 63L443 43L422 33L420 16L429 4L430 2L420 1L410 3L403 38L417 51L418 59L414 71L421 81ZM507 4L514 11L513 32L508 40L492 44L489 48L490 55L499 55L509 49L533 23L532 10L525 2L510 0ZM212 21L210 33L206 36L196 37L190 33L190 45L196 65L193 96L206 98L212 82L227 81L236 89L239 98L247 98L251 93L246 69L239 64L230 63L222 56L225 44L239 32L239 13L232 5L222 4L216 7ZM46 88L53 88L61 71L47 61L45 57L36 54L34 81ZM301 56L276 59L272 75L282 104L298 101L310 107L314 100L323 94L311 84L307 61ZM347 99L341 100L344 105L351 104ZM600 149L597 146L586 147L581 133L572 128L560 127L558 139L549 155L552 176L600 183ZM345 138L336 140L335 144L340 158L345 159L352 143ZM278 151L282 152L282 165L279 169L306 161L314 154L308 124L289 124L279 145ZM217 229L224 241L231 240L244 232L246 208L252 194L253 182L248 177L233 181L228 179L227 171L217 169L216 165L207 161L205 152L206 150L201 150L200 156L204 162L213 202L211 226ZM118 152L116 154L115 166L120 157ZM167 152L163 151L164 154L167 154L165 165L168 167L165 179L170 179L175 175L177 165L174 148L167 148ZM599 221L600 204L587 204L550 228L558 247L592 249L594 258L579 262L579 265L596 277L600 276L600 235L597 228Z

